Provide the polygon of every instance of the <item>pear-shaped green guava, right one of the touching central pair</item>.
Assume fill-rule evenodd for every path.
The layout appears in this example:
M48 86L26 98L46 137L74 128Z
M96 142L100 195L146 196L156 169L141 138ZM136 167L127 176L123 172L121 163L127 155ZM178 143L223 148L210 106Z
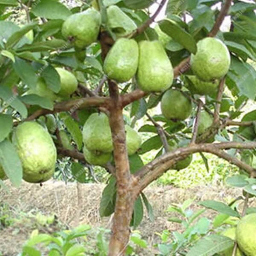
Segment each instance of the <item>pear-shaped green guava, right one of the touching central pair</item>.
M146 92L162 92L172 85L173 68L159 41L140 41L137 82Z

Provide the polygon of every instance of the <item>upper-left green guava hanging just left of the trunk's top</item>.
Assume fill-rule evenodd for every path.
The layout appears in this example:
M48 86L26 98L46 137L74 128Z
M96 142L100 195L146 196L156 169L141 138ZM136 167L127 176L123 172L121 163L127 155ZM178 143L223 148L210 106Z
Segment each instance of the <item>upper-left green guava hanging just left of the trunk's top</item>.
M84 12L70 15L62 25L64 38L73 38L78 48L84 48L95 42L101 25L100 12L89 8Z

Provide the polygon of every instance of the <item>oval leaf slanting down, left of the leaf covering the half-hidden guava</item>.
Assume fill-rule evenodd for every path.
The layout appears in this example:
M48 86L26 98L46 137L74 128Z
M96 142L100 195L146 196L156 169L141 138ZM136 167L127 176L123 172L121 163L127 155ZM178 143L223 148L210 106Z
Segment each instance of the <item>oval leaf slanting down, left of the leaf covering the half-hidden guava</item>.
M16 57L12 66L24 84L27 84L29 88L35 88L38 77L29 62Z

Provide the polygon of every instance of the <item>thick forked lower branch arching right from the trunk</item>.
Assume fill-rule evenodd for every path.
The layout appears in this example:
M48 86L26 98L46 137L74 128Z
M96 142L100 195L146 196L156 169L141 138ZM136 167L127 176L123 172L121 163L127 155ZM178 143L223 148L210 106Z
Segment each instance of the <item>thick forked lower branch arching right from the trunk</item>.
M256 177L256 169L246 163L241 162L235 157L230 156L226 152L222 151L224 149L230 148L246 148L254 149L256 147L256 142L226 142L226 143L204 143L204 144L192 144L186 148L177 148L174 151L168 152L155 160L151 161L143 168L141 168L136 174L135 178L138 180L137 192L142 191L149 183L160 177L164 172L166 172L171 166L173 166L177 161L182 160L184 156L189 154L194 154L197 152L207 152L215 154L218 157L224 158L225 160L233 163L246 172L250 173L252 177Z

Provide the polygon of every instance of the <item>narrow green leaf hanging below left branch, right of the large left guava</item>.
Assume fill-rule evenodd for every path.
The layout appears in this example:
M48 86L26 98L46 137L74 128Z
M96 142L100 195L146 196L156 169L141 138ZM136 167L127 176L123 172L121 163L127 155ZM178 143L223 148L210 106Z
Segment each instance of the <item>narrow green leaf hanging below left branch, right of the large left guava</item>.
M67 130L70 132L73 140L77 145L77 148L81 150L83 145L83 137L79 124L67 113L61 113L60 118L67 127Z

